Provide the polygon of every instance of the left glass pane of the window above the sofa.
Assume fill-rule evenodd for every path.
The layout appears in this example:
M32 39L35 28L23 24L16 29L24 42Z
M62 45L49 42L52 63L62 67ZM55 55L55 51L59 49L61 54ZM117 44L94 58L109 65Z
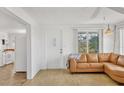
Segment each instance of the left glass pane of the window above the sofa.
M87 53L87 33L86 32L78 33L78 52Z

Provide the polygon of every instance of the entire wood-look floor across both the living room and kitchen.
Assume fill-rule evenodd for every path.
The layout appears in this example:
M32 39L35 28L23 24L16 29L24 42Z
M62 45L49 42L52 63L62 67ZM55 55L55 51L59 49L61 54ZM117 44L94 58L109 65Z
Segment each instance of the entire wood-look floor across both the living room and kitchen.
M13 73L13 65L0 68L0 86L118 86L104 73L76 73L67 70L41 70L32 80L26 73Z

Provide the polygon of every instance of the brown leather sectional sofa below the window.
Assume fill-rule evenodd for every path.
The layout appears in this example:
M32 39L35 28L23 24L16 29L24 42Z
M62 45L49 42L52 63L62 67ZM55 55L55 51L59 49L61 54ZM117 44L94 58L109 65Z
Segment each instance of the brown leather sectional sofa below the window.
M70 72L105 72L113 80L124 83L124 56L115 53L81 54L69 61Z

